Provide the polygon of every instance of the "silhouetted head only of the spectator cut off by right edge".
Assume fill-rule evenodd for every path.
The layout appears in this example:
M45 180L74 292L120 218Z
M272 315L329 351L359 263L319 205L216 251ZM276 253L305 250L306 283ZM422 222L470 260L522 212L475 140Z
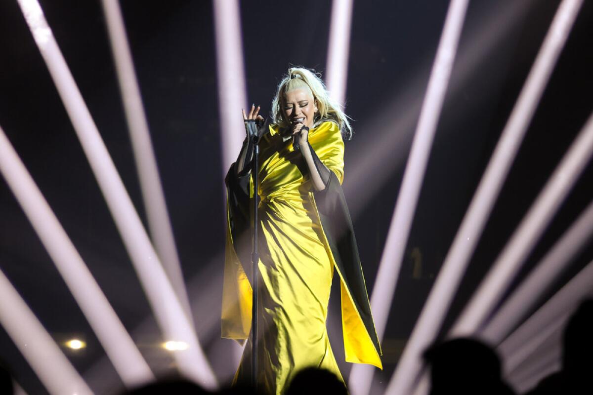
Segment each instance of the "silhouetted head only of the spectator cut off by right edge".
M563 370L573 375L590 375L592 356L593 299L588 299L570 317L564 330Z

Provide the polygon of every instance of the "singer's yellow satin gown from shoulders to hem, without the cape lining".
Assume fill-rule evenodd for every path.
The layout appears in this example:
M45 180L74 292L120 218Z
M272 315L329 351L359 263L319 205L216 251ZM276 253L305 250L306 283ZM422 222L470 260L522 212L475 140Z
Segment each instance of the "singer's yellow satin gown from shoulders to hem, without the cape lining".
M336 124L322 123L308 139L342 182L344 143ZM259 384L267 393L281 394L296 372L311 366L342 379L326 329L331 252L304 159L275 127L260 144L259 175ZM235 381L248 382L250 349L248 344Z

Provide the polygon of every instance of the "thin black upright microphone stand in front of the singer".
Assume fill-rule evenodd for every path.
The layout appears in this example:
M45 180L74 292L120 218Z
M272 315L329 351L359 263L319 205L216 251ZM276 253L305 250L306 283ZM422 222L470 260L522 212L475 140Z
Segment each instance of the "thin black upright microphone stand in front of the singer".
M259 280L259 248L257 245L257 235L259 233L259 216L257 208L259 206L259 195L257 194L257 182L259 178L259 136L258 133L251 134L253 143L253 159L251 161L251 174L253 174L253 224L251 225L251 235L253 240L253 249L251 250L251 281L253 290L253 301L251 306L251 385L257 391L257 290Z

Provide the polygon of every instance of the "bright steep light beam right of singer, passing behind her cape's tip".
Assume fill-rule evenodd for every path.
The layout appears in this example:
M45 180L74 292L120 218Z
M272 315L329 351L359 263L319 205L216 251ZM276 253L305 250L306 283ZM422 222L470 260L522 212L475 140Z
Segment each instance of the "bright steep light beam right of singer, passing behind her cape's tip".
M441 114L445 92L447 92L455 53L457 52L457 44L466 15L467 2L467 0L452 0L449 4L441 40L439 41L435 62L428 81L428 88L420 110L412 150L406 164L396 208L387 233L387 242L385 242L385 248L381 256L381 263L371 296L371 309L380 340L383 338L385 325L387 325L387 317L400 272L401 259L416 211L418 195L420 187L422 187L428 156L431 152L436 124ZM350 373L348 384L352 393L354 395L368 394L373 374L373 368L355 365ZM391 391L396 391L397 394L408 393L407 390L404 390L404 388L409 387L406 378L400 377L398 383L400 383L398 385L401 387L394 388ZM388 388L388 393L389 391Z

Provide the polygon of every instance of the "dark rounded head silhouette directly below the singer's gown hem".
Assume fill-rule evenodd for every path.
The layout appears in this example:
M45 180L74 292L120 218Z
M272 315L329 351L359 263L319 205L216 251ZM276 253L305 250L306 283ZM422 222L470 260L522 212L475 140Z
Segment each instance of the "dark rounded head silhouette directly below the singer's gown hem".
M286 395L347 395L342 380L332 372L320 368L305 368L299 371L286 391Z

